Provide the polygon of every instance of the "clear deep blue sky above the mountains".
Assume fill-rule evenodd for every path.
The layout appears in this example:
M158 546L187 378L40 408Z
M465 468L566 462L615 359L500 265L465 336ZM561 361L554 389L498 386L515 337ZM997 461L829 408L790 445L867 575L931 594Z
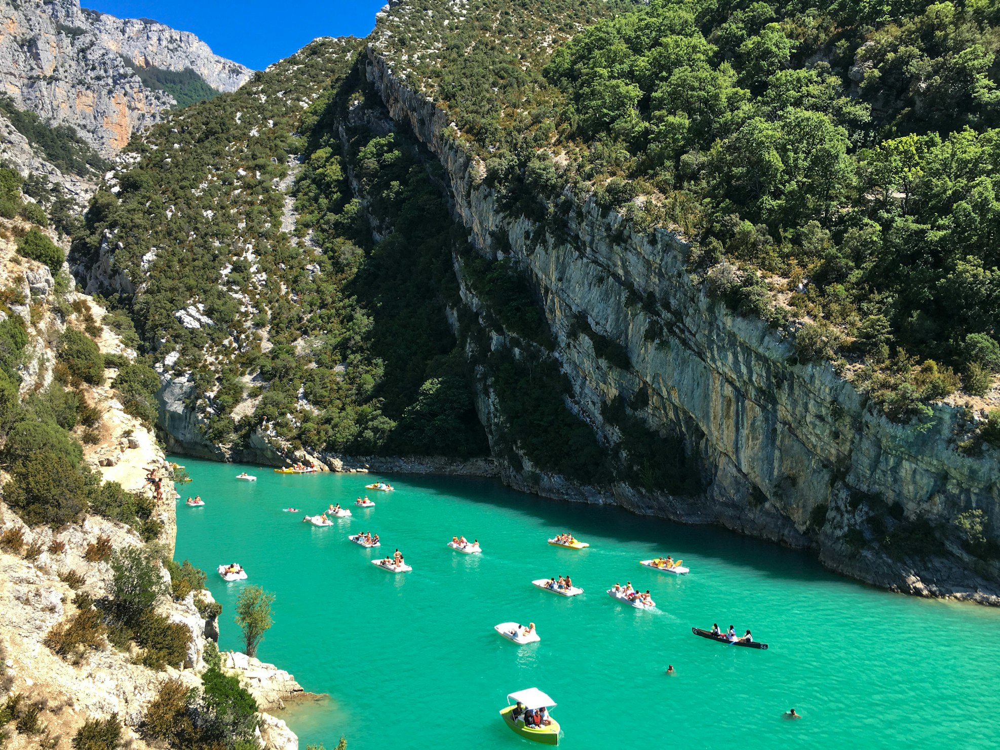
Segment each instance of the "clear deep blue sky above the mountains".
M119 18L152 18L201 37L217 55L263 70L318 36L367 36L386 0L82 0Z

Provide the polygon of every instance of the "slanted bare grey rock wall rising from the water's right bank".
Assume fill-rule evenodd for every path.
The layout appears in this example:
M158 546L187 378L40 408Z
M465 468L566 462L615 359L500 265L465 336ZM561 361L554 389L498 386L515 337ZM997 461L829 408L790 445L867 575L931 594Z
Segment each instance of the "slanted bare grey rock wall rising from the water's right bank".
M366 74L392 119L444 166L454 214L477 250L493 255L493 237L506 237L505 252L544 303L574 408L610 443L618 428L601 407L621 396L647 427L681 438L702 489L681 496L624 483L582 487L533 471L530 463L526 470L506 466L509 484L717 523L813 547L828 567L876 585L1000 604L995 563L975 560L953 543L941 554L888 555L871 522L889 511L898 523L947 527L979 509L988 519L987 538L1000 538L1000 462L995 453L955 449L956 409L937 405L932 424L918 431L866 408L866 398L829 364L793 364L787 339L705 295L686 270L688 245L674 234L636 234L592 199L575 204L559 237L505 216L480 182L483 165L460 147L445 111L401 85L371 48ZM461 280L457 259L456 270ZM463 298L478 311L466 284ZM654 309L630 306L647 298L655 300ZM576 335L581 313L598 334L624 345L628 369L600 359L590 339ZM651 320L667 332L660 341L647 340ZM635 402L640 391L644 406ZM479 409L495 442L504 424L489 388Z

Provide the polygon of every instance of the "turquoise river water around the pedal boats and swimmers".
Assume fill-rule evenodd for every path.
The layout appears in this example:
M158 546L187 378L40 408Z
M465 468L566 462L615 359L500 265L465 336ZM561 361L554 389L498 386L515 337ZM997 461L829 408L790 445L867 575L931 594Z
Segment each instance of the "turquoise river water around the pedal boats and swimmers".
M177 458L203 508L178 507L177 559L209 571L223 603L222 648L240 648L233 623L242 583L215 575L237 561L249 583L277 595L258 656L294 673L321 704L283 714L302 747L343 734L350 750L445 745L530 748L501 723L508 692L536 686L558 707L561 745L630 748L1000 746L1000 611L922 601L824 571L808 555L717 529L641 518L616 508L542 500L476 480L287 476L270 469ZM244 468L257 482L238 482ZM349 504L329 528L305 513ZM293 506L302 512L283 513ZM349 533L381 535L366 550ZM571 531L581 552L546 544ZM482 555L446 547L476 537ZM398 547L413 572L368 561ZM674 577L641 567L683 558ZM531 580L569 574L567 599ZM650 589L658 609L605 594L616 581ZM534 621L541 643L517 646L493 626ZM767 651L698 638L691 626L752 628ZM675 675L664 670L673 664ZM800 721L782 713L795 707Z

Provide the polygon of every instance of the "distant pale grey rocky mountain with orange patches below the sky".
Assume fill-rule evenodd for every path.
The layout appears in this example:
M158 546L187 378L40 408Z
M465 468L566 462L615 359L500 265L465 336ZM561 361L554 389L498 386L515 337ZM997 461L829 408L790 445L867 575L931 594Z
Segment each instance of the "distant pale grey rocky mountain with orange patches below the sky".
M190 68L217 91L251 75L193 34L153 21L83 10L77 0L0 2L0 92L46 121L73 125L105 155L176 104L142 83L136 69L151 67Z

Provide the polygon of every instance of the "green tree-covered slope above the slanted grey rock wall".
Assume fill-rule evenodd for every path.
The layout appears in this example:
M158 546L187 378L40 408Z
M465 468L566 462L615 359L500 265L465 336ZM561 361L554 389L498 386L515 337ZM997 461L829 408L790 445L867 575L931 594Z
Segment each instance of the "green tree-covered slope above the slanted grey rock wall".
M423 5L376 47L511 215L553 220L570 184L678 228L710 293L803 323L800 359L892 418L992 386L996 3L653 0L576 34L584 2Z

